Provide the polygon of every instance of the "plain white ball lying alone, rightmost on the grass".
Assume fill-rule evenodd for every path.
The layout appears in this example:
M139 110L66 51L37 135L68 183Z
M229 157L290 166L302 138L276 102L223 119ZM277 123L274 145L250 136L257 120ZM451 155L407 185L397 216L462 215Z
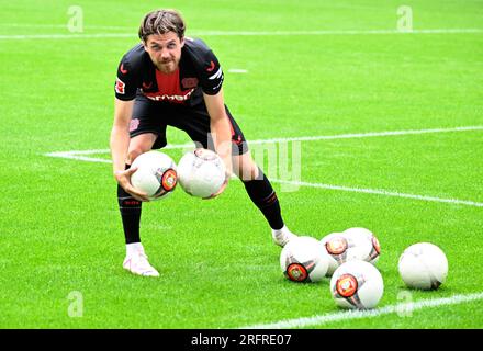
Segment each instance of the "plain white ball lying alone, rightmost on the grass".
M397 268L408 287L436 290L448 275L448 259L436 245L418 242L404 250Z

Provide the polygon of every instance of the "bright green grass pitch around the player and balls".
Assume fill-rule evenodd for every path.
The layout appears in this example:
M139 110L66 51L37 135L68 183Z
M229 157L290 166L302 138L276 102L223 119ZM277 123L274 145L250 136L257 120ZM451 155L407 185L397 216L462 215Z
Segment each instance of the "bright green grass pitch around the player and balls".
M299 327L483 327L481 1L406 1L414 33L395 32L401 1L81 0L81 33L67 29L70 1L41 3L0 12L1 328L239 328L314 316ZM187 34L213 48L248 140L475 127L302 139L300 180L312 185L273 181L293 231L319 239L362 226L378 236L378 308L449 303L347 317L328 280L282 276L280 248L237 180L213 201L178 189L145 204L142 239L161 276L122 269L111 165L46 154L109 148L119 60L158 7L179 9ZM189 141L173 129L168 140ZM409 291L398 276L400 254L418 241L448 257L438 291Z

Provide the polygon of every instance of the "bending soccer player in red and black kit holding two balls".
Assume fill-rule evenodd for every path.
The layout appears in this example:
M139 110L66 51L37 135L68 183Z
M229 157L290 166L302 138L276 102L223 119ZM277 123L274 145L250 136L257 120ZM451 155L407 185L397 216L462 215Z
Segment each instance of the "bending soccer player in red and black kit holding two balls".
M136 169L130 165L141 154L167 145L167 126L184 131L198 145L220 155L227 169L225 186L232 172L239 177L277 245L283 247L294 237L284 225L276 192L251 159L242 129L224 103L223 70L216 56L201 39L186 37L184 30L175 10L147 13L139 26L142 43L123 56L117 68L110 145L126 242L123 267L139 275L159 273L141 244L142 202L148 199L131 184Z

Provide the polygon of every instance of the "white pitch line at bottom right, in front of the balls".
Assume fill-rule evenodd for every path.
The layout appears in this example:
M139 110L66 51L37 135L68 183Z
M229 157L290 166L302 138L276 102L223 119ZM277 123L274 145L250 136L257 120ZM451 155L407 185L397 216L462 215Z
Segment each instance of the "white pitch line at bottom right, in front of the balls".
M390 314L401 314L407 316L411 312L424 308L434 308L440 306L458 305L470 303L473 301L483 299L483 293L475 293L469 295L454 295L445 298L430 298L418 302L401 303L389 305L375 309L366 310L347 310L335 314L317 315L312 317L302 317L294 319L285 319L272 324L259 324L252 326L242 327L239 329L290 329L290 328L305 328L310 326L322 326L334 321L345 321L350 319L374 318ZM403 317L402 317L403 318Z

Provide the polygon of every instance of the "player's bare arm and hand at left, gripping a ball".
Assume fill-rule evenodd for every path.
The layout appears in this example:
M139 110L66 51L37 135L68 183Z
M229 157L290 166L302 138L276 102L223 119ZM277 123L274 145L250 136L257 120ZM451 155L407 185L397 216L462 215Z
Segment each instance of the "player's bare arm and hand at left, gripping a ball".
M137 191L131 184L131 174L136 168L125 170L125 161L130 147L130 122L133 114L134 100L123 101L115 98L114 123L111 131L111 156L114 178L117 183L136 200L148 201L147 194Z

